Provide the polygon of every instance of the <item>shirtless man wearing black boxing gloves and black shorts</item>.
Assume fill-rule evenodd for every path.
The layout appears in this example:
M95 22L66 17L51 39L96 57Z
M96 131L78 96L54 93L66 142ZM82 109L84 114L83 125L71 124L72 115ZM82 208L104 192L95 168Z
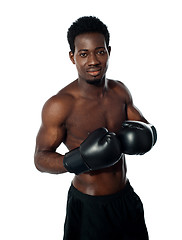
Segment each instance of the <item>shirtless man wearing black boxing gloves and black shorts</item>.
M64 240L146 240L143 206L126 177L125 154L149 151L156 130L125 85L106 78L107 27L95 17L80 18L69 28L68 41L78 79L45 103L35 151L41 172L75 173ZM61 143L65 155L56 152Z

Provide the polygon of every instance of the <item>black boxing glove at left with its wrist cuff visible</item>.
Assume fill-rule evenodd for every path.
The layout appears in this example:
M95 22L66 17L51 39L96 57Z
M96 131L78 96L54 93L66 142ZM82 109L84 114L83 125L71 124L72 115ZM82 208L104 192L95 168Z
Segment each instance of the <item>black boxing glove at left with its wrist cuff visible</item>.
M121 145L115 133L99 128L81 143L80 147L66 153L63 159L68 172L80 174L110 167L120 160Z

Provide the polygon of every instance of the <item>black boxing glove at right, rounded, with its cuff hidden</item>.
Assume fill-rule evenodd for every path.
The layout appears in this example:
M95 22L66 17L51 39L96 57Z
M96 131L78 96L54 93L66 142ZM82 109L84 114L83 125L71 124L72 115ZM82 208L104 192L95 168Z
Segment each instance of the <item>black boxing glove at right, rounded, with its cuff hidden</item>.
M125 121L117 134L122 152L142 155L148 152L157 141L157 131L151 124L140 121Z

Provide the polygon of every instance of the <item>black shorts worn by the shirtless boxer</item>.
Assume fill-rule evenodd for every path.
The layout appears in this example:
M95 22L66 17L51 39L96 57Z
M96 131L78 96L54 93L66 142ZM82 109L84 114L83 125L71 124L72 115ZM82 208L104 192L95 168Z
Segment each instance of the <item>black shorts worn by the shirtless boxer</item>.
M63 240L148 240L143 204L127 182L120 192L90 196L71 185Z

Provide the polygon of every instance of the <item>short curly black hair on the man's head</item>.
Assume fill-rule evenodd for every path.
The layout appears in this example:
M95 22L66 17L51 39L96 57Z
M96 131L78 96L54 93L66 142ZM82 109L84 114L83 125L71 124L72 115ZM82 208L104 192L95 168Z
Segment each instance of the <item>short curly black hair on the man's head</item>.
M72 53L75 51L75 37L89 32L102 33L106 40L106 46L109 47L110 34L107 26L97 17L85 16L78 18L68 29L67 39Z

